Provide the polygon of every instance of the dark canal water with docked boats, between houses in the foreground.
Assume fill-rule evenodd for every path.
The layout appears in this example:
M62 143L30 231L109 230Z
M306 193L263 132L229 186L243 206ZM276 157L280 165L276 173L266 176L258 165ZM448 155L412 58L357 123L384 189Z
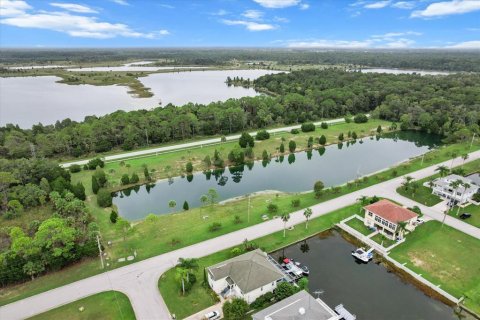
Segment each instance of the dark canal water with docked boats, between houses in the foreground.
M383 266L356 263L351 256L354 248L332 232L279 250L273 256L284 254L307 265L310 293L315 296L315 291L323 290L320 298L330 307L342 303L359 320L458 319L452 308L426 296Z

